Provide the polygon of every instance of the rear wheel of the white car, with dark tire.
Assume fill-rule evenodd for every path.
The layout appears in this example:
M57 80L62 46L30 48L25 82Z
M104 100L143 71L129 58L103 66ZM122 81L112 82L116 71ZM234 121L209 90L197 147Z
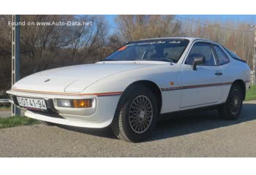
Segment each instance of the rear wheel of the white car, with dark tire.
M219 114L223 119L236 120L241 115L243 108L242 88L238 84L233 84L227 96L225 104L219 108Z

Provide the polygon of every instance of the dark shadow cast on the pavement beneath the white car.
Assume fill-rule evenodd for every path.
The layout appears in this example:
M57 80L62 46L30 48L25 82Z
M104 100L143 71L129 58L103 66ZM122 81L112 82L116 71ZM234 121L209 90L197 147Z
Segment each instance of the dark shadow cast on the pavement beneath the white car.
M165 117L159 120L148 141L208 131L215 128L244 123L250 120L256 120L256 104L244 104L241 117L238 120L223 120L219 117L217 110L184 114L178 117ZM110 127L102 129L77 128L66 125L59 125L59 127L93 136L116 139Z

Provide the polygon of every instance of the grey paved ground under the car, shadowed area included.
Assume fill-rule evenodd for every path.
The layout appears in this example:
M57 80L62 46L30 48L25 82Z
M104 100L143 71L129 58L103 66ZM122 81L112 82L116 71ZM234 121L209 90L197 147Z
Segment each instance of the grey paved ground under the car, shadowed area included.
M236 121L217 112L161 121L151 141L140 144L118 140L109 129L1 129L0 157L256 157L256 101L244 104Z

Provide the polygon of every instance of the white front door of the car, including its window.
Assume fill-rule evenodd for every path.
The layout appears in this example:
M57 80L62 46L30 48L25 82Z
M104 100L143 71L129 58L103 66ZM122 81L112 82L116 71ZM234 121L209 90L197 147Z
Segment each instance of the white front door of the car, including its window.
M192 69L196 55L203 55L205 63ZM195 42L181 64L181 104L180 108L195 108L210 106L219 101L222 90L219 88L219 76L222 69L218 66L217 59L209 42Z

